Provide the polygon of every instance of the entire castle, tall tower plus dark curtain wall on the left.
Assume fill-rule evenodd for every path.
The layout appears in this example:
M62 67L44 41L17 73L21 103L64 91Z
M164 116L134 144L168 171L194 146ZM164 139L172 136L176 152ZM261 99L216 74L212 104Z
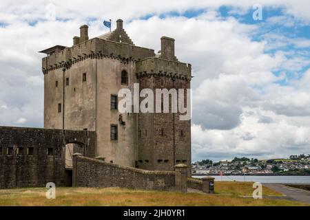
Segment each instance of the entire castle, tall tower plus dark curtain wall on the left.
M14 165L0 169L6 179L1 187L42 185L47 179L60 184L67 179L68 185L74 153L144 170L174 171L176 164L187 164L191 172L190 120L179 120L178 112L118 111L118 91L133 93L135 83L140 91L190 88L191 65L176 58L174 39L163 36L155 54L134 45L118 19L112 32L89 39L83 25L71 47L56 45L41 53L47 54L42 59L44 129L0 127L0 164ZM19 140L16 133L25 138ZM33 140L38 133L41 139ZM32 155L37 160L29 159ZM12 177L10 172L17 174ZM27 180L31 175L32 184Z

